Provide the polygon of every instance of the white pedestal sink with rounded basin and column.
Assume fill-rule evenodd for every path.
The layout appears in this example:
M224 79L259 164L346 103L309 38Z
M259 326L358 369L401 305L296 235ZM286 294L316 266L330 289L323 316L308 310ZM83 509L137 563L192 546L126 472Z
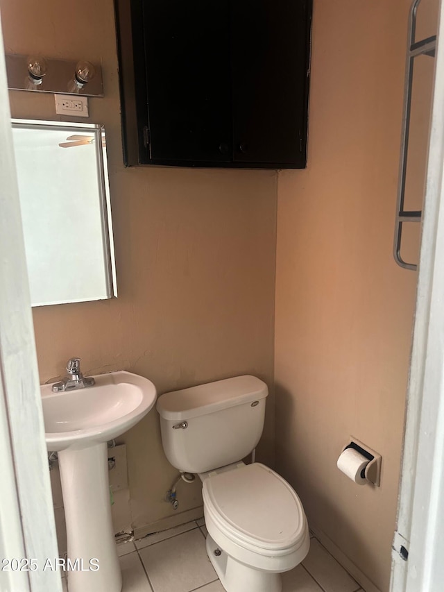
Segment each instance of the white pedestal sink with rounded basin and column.
M148 413L156 391L150 380L130 372L94 378L96 384L85 389L54 393L51 384L41 387L46 448L58 453L69 592L120 592L107 442Z

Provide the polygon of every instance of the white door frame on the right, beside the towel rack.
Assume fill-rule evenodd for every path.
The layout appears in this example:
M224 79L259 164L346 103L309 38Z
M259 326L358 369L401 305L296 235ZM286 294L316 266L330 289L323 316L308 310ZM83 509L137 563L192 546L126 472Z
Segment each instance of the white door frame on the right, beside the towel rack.
M444 3L436 65L391 592L444 582ZM441 527L440 527L441 525Z

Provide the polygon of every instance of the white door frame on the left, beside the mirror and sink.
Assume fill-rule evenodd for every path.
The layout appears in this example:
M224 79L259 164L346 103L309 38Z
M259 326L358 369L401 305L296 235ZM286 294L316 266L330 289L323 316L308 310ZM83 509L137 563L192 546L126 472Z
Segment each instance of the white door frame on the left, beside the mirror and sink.
M1 22L0 146L0 590L62 592Z

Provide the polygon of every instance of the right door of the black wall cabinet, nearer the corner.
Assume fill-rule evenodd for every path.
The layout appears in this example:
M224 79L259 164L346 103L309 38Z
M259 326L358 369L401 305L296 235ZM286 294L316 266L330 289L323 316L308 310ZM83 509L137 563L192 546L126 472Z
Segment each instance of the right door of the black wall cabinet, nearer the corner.
M234 162L305 167L309 0L232 0Z

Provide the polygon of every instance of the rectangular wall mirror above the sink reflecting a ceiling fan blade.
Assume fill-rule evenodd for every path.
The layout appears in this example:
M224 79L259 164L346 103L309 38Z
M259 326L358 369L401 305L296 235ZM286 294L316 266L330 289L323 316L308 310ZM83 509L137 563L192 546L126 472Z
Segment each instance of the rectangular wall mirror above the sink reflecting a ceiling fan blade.
M33 306L117 296L105 130L12 119Z

